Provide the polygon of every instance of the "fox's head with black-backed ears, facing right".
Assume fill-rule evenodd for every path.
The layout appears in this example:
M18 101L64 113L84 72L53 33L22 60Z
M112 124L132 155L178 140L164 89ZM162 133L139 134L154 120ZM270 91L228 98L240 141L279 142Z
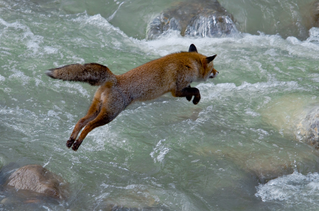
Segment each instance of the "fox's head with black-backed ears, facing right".
M189 46L188 52L198 53L194 44L191 44ZM201 60L201 64L202 64L202 67L200 67L200 69L199 69L200 77L202 77L201 79L207 80L208 78L216 77L218 75L218 71L216 69L214 69L214 64L212 61L215 59L215 57L217 55L213 55L210 57L206 57L206 56L201 55L201 54L199 54L199 55L200 55L200 60Z

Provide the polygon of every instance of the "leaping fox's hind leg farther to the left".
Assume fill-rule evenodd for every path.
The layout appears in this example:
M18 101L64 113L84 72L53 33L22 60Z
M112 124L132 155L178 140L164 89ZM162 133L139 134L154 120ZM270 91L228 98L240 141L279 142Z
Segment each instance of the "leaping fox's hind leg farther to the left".
M100 112L100 102L94 98L93 102L87 111L87 114L81 118L78 123L75 125L73 132L69 138L69 140L66 142L66 146L70 148L72 144L75 142L75 139L78 137L79 132L81 129L91 120L97 117L97 115Z

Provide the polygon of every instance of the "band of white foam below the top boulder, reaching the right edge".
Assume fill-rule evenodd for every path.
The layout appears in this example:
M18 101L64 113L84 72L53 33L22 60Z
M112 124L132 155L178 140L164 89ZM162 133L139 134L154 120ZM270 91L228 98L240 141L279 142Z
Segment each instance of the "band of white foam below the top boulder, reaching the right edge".
M265 35L261 33L260 35L251 35L242 33L237 37L227 37L227 38L188 38L182 37L178 31L167 31L160 35L155 40L136 40L131 38L131 40L138 44L142 50L146 52L153 52L154 54L159 54L164 56L177 51L187 51L191 43L195 44L199 53L204 55L210 55L211 52L216 52L217 50L228 52L229 50L234 50L236 48L258 48L267 47L280 49L281 51L286 51L289 55L297 56L307 56L310 58L319 58L319 28L313 27L309 30L309 38L305 41L300 41L295 37L288 37L286 40L281 38L279 35ZM229 46L232 49L229 49ZM310 51L310 52L309 52ZM314 52L315 51L315 52ZM276 56L276 52L267 50L268 54Z

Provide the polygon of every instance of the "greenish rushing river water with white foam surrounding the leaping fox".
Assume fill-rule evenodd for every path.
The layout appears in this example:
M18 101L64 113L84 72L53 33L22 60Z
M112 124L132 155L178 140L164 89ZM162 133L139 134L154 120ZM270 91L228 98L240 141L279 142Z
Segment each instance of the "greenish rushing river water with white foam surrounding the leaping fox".
M318 210L319 152L298 142L319 102L311 2L222 0L240 36L147 41L147 24L173 1L0 0L0 167L40 164L71 191L25 203L0 188L0 210ZM170 94L136 102L77 152L66 148L96 87L45 70L98 62L122 74L191 43L218 55L219 76L193 84L198 105Z

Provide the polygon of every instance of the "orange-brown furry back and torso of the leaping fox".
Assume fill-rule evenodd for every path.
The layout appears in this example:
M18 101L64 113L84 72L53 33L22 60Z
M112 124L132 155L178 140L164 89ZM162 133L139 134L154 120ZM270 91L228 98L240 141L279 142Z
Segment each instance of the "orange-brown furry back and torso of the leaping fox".
M147 62L116 76L118 85L134 100L157 98L174 89L178 77L196 75L196 58L191 54L175 53ZM191 69L188 73L184 72L186 69L189 71L187 67Z

